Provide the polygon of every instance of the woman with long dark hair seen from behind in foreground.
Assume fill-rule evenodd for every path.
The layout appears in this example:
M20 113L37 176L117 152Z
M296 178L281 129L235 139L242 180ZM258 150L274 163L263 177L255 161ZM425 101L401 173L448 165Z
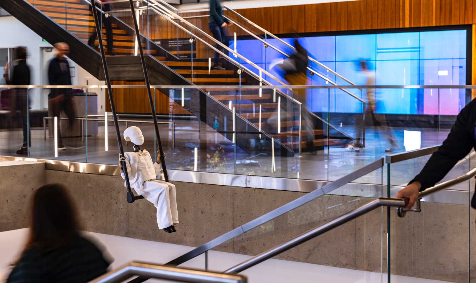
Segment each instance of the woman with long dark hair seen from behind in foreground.
M7 283L85 283L107 272L110 261L79 234L76 210L64 185L36 190L30 213L30 236Z

